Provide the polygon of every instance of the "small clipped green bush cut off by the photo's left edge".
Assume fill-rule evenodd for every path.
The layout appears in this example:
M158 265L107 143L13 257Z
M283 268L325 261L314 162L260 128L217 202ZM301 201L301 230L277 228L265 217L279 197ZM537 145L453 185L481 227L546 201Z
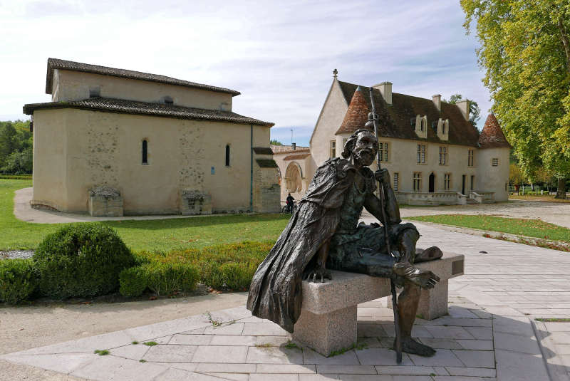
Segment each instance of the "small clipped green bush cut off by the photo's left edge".
M16 304L25 301L35 290L37 281L31 259L0 261L0 302Z

